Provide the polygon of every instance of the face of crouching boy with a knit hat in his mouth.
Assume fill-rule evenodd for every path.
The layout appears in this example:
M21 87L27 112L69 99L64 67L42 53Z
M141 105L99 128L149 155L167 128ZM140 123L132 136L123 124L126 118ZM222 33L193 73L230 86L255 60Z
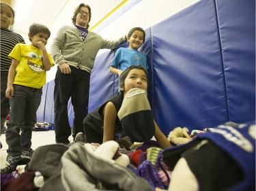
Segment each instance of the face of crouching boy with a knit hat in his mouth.
M142 88L147 91L147 76L141 69L132 69L124 80L124 87L120 90L124 91L124 95L132 88Z

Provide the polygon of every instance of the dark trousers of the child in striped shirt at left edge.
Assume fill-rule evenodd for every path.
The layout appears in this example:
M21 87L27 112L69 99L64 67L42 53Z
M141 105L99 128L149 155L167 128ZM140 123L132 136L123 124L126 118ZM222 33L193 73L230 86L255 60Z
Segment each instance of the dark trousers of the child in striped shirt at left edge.
M3 124L5 123L6 116L10 111L9 99L5 97L7 78L8 71L1 71L1 133L3 131Z

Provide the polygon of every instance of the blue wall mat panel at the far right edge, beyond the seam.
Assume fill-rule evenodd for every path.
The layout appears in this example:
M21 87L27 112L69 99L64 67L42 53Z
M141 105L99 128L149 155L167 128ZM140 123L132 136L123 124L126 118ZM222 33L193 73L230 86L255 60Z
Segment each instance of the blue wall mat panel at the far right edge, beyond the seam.
M216 1L228 120L255 120L255 1Z

